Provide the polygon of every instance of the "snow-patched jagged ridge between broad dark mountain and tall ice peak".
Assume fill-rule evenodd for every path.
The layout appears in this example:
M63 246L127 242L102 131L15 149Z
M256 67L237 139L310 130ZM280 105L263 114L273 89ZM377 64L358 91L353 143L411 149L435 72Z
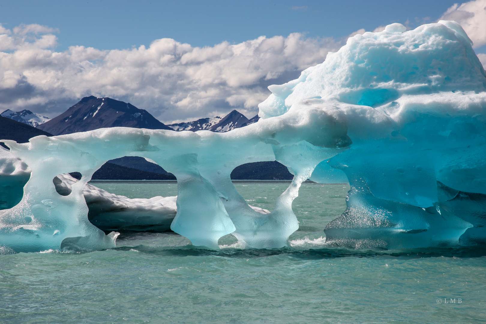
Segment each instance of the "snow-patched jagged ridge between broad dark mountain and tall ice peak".
M167 125L174 129L174 131L202 131L208 130L217 133L225 133L235 128L244 127L254 122L257 122L260 117L255 116L252 119L247 119L237 110L233 110L225 117L202 118L189 122L181 122L177 124Z

